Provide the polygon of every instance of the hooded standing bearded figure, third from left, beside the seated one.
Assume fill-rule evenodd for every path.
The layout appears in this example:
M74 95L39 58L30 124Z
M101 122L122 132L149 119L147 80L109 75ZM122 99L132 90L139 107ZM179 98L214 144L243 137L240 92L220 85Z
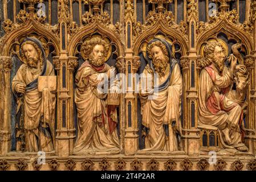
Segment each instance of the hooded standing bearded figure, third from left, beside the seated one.
M164 39L148 43L143 74L152 78L159 88L140 88L142 125L146 128L145 151L177 151L181 144L182 76L177 61L172 58L172 46ZM156 83L157 82L157 83ZM143 84L145 85L145 84ZM149 98L155 94L155 98Z

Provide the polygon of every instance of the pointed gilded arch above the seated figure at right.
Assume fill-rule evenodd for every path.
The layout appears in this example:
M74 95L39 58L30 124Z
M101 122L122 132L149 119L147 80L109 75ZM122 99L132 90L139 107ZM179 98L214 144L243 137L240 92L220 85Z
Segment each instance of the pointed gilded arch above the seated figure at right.
M213 28L210 28L209 30L205 31L205 33L197 40L197 54L200 55L200 48L202 44L209 38L210 36L216 35L216 32L223 32L224 34L231 34L238 39L241 40L241 43L245 44L247 48L247 54L250 54L250 52L253 50L253 42L251 42L251 39L249 38L249 35L246 34L246 32L242 31L236 26L233 26L233 24L230 24L225 18L222 19L222 21Z

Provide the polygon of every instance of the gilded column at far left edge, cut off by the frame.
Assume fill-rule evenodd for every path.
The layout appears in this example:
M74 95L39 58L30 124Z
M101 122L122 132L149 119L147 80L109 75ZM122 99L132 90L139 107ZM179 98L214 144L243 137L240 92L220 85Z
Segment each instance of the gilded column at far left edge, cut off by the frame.
M11 149L11 57L0 57L0 155Z

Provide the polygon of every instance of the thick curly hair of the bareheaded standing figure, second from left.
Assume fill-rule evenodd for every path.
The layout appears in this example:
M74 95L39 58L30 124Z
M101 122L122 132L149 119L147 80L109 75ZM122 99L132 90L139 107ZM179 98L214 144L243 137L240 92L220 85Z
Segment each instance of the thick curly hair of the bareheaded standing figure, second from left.
M101 45L104 47L104 57L107 57L109 45L105 40L98 37L86 40L82 45L81 53L84 54L84 57L90 57L92 49L94 49L94 46L96 45Z

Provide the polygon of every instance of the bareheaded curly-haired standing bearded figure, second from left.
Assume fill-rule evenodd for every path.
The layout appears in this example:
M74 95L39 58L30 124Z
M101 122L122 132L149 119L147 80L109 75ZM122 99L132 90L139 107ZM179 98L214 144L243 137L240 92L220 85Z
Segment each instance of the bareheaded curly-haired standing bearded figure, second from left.
M99 37L86 40L81 49L84 63L76 73L75 104L78 138L74 154L119 152L116 107L107 105L108 94L99 89L101 73L110 78L115 69L104 63L109 46Z

